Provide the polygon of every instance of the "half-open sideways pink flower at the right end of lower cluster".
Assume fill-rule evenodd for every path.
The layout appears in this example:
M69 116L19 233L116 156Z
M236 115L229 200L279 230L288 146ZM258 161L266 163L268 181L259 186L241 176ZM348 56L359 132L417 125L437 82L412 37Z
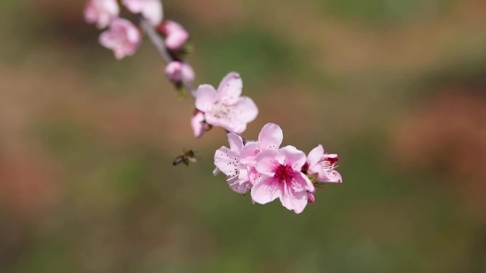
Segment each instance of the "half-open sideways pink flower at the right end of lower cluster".
M309 152L304 170L307 174L317 174L318 182L341 183L341 174L334 169L336 162L338 155L326 154L323 145L318 145Z

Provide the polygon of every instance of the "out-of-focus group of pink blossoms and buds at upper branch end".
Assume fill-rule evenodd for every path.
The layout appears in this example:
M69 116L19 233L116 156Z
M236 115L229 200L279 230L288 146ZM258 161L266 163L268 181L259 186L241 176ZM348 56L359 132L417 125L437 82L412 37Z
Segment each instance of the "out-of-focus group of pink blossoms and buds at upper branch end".
M123 6L134 14L139 14L156 27L163 35L166 48L171 54L171 62L166 66L168 79L179 87L183 82L193 82L193 68L184 62L180 50L188 41L189 33L180 24L163 21L163 6L160 0L122 0ZM113 50L114 56L121 60L134 55L141 45L142 33L131 21L119 17L120 6L117 0L90 0L85 6L85 20L105 29L99 35L99 43Z

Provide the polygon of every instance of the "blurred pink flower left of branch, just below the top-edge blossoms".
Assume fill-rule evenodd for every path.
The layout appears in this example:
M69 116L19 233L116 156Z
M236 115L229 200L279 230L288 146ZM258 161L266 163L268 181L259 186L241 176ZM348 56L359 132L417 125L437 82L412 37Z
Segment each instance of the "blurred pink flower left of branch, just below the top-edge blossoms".
M110 23L109 29L99 36L99 43L113 50L115 57L121 60L134 55L141 43L141 33L130 21L116 18Z

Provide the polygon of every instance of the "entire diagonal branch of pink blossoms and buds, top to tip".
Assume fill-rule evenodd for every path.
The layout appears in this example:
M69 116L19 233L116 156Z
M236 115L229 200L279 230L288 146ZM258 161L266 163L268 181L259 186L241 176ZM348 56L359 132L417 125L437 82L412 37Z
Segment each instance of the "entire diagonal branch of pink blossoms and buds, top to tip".
M322 183L341 183L335 171L338 155L324 152L318 145L306 155L293 146L281 147L284 135L279 126L267 123L258 140L246 141L239 134L257 118L259 109L252 99L242 96L242 77L229 72L217 89L201 84L193 89L195 74L183 60L189 33L180 24L163 19L161 0L89 0L85 20L104 29L99 43L121 60L134 55L141 45L142 31L121 18L120 8L136 14L158 52L166 61L165 73L178 89L188 89L195 97L195 110L190 120L193 133L200 138L214 126L227 131L229 147L215 152L218 172L227 176L229 187L239 194L251 192L254 203L266 204L280 199L281 204L301 213L315 201L315 188Z

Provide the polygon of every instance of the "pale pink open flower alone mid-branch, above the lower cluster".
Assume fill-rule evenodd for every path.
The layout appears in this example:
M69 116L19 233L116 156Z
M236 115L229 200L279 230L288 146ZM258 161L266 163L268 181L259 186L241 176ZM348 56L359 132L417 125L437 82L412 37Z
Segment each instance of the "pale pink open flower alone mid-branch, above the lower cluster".
M202 84L196 92L195 106L205 113L205 120L229 132L243 133L247 123L257 118L258 108L242 94L242 78L231 72L222 79L217 91L209 84Z

